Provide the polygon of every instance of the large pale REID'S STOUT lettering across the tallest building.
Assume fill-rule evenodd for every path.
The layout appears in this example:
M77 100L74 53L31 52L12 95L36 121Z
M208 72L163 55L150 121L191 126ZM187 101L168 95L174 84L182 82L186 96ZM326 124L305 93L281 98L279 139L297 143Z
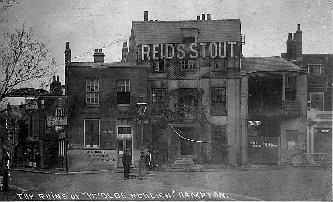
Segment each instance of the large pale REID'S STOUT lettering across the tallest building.
M236 42L212 42L212 43L191 43L188 44L145 44L142 45L142 60L150 60L152 56L153 60L159 59L183 59L186 56L185 49L189 48L191 53L190 57L195 59L197 57L206 58L206 49L209 50L210 58L225 58L227 57L227 50L230 50L228 57L234 57L234 46ZM186 47L189 46L189 47ZM202 55L199 54L201 50ZM161 56L161 57L158 57Z

